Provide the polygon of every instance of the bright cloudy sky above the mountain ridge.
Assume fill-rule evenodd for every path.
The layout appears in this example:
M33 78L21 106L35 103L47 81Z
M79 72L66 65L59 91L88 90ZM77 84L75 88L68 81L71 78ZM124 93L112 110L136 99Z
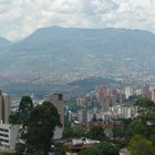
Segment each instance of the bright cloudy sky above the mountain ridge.
M155 0L0 0L0 37L18 41L51 25L155 32Z

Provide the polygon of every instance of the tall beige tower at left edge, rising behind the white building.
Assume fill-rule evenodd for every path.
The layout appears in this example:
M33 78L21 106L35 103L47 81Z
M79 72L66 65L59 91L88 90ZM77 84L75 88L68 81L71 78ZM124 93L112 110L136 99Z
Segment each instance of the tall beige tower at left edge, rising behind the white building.
M8 124L9 116L11 114L11 100L8 94L2 93L0 91L0 122Z

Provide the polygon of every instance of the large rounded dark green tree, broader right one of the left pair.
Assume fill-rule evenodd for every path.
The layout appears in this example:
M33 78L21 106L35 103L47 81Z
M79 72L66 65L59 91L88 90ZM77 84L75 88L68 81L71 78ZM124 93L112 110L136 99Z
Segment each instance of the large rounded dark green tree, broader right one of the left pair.
M50 102L37 105L30 113L27 125L25 140L27 153L50 152L55 126L60 126L60 116L55 106Z

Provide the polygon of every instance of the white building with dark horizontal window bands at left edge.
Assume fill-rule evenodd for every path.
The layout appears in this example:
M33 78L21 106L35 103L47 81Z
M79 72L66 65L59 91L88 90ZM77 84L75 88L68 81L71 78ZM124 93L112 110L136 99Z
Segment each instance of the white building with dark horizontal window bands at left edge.
M14 151L18 141L18 125L0 124L0 149Z

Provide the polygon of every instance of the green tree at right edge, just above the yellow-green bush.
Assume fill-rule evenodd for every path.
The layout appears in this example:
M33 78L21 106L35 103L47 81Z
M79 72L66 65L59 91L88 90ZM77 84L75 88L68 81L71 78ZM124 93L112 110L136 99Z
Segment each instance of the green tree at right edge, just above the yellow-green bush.
M138 116L134 118L127 131L133 131L132 135L143 134L148 138L155 135L155 104L146 97L138 99L135 103L137 106ZM136 132L135 132L136 131Z

